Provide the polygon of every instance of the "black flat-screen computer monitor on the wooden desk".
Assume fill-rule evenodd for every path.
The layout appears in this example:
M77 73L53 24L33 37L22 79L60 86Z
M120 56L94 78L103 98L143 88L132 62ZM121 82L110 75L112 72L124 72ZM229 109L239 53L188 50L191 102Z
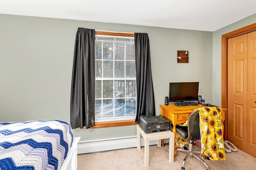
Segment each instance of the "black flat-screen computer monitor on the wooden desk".
M169 84L169 102L195 101L199 82L173 82Z

